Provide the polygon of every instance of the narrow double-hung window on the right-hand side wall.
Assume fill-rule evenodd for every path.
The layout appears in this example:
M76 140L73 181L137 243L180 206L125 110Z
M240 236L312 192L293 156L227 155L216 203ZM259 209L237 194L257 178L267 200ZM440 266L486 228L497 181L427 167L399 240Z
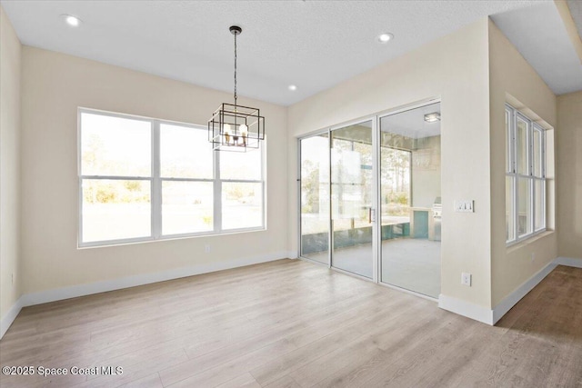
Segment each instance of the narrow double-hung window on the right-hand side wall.
M506 105L506 240L546 230L544 129Z

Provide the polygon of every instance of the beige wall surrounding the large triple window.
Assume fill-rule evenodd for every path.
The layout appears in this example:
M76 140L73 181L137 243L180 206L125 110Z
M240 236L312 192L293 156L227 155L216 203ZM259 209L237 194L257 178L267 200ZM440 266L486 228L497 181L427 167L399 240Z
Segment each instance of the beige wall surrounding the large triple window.
M25 46L22 230L25 293L287 251L286 109L245 98L266 116L265 232L77 249L77 107L206 124L232 95ZM210 144L208 144L210 146ZM205 244L211 253L205 254Z

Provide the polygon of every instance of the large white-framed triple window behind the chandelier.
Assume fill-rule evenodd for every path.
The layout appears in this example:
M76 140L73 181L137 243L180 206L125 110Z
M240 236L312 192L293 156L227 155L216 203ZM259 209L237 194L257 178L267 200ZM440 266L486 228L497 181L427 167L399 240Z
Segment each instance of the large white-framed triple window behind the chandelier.
M205 127L80 109L79 184L79 246L265 227L263 150Z

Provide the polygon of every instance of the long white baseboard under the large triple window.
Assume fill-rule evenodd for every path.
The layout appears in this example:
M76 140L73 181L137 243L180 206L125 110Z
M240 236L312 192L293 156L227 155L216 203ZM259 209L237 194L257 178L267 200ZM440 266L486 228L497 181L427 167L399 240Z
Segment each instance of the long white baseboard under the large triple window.
M207 274L226 269L243 267L246 265L272 262L279 259L285 259L289 252L276 252L274 254L262 254L255 257L246 257L242 259L228 260L211 264L193 265L184 268L176 268L156 274L136 274L114 280L105 280L91 284L78 284L70 287L55 288L38 293L26 293L21 298L22 306L31 306L41 303L61 301L64 299L75 298L78 296L90 295L93 293L106 293L108 291L120 290L137 285L152 284L165 282L166 280L179 279L196 274ZM3 321L4 323L4 321Z

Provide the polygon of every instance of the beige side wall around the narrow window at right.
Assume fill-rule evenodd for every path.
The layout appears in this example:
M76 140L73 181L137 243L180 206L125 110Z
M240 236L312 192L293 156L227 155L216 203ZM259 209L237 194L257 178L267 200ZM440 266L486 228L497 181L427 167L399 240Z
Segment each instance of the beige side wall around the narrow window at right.
M495 307L509 293L537 274L557 257L557 233L550 231L523 244L506 245L505 221L505 103L517 109L525 105L525 113L533 113L556 127L556 96L536 71L527 64L517 49L497 26L489 21L489 90L491 94L491 278L492 306ZM520 104L523 104L520 106ZM517 106L516 106L517 105ZM553 172L553 135L547 132L547 224L554 227L555 176ZM533 258L533 259L532 259Z

